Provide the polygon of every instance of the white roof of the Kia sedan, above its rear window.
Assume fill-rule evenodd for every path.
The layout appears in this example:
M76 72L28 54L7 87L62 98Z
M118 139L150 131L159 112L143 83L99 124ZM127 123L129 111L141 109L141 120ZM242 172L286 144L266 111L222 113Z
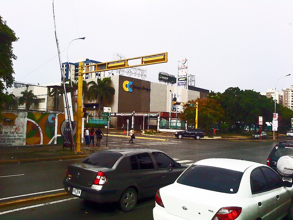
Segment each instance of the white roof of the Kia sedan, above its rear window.
M261 163L256 163L247 160L237 160L229 158L208 158L195 162L196 165L219 167L228 170L235 170L239 172L244 172L248 167L258 165L264 166Z

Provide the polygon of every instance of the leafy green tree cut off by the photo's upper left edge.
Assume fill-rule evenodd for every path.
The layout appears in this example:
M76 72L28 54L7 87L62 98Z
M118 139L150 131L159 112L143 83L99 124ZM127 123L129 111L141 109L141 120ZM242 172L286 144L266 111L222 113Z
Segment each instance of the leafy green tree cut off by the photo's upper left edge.
M14 81L12 60L16 60L17 57L13 54L12 43L17 40L14 31L6 25L6 21L3 21L0 16L0 112L3 104L10 100L5 89L11 88Z

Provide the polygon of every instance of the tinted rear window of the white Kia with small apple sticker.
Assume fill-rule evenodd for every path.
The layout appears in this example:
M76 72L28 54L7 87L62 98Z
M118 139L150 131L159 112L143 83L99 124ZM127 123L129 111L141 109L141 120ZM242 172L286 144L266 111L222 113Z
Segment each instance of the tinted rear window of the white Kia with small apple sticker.
M243 172L192 165L177 180L178 183L215 192L237 193Z

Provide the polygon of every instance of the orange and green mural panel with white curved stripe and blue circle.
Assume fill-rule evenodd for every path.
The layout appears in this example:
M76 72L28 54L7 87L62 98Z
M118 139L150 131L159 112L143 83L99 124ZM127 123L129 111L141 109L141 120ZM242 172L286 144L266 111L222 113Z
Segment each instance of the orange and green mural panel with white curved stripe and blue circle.
M28 112L26 145L50 144L55 135L55 114Z

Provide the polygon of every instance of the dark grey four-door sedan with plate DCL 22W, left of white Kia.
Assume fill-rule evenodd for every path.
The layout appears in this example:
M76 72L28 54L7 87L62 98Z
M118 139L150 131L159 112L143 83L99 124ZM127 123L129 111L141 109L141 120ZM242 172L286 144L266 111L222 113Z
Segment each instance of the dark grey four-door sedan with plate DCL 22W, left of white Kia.
M120 202L127 212L137 199L155 196L157 189L173 183L187 167L160 150L101 150L69 165L63 185L66 192L82 199Z

